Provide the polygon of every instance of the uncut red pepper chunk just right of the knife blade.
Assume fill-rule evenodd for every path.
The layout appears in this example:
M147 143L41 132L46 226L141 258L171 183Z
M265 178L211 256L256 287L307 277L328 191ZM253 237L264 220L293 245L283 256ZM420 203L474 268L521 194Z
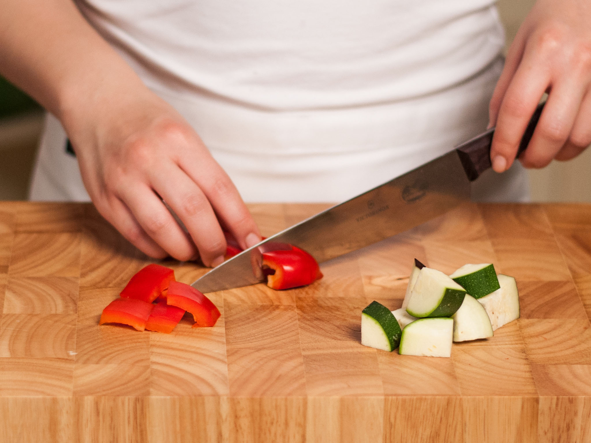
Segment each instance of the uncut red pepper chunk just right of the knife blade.
M262 270L267 275L269 288L296 288L322 278L320 267L313 256L296 246L291 248L262 254Z

